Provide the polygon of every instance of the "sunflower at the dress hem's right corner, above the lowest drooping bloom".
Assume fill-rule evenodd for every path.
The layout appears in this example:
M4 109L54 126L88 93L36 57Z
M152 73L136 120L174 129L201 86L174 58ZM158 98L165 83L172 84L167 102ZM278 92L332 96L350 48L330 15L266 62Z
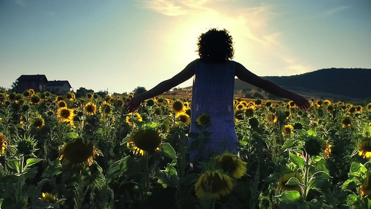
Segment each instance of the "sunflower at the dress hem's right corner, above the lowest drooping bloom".
M221 169L229 173L233 178L241 178L246 173L246 162L239 159L236 155L224 153L216 156L216 161Z

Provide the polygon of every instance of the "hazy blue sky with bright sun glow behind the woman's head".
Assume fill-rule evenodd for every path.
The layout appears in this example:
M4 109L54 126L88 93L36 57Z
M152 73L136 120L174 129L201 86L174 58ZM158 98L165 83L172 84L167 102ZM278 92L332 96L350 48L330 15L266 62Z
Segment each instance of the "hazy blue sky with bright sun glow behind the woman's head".
M370 0L0 0L0 86L44 74L74 91L149 90L197 59L211 28L259 76L371 68Z

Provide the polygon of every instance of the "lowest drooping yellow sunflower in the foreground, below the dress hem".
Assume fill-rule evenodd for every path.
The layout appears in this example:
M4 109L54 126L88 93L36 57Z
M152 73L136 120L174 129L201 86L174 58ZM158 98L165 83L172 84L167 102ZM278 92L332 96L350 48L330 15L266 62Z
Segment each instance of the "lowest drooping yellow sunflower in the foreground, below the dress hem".
M195 184L198 199L219 199L232 191L232 178L220 171L206 171Z

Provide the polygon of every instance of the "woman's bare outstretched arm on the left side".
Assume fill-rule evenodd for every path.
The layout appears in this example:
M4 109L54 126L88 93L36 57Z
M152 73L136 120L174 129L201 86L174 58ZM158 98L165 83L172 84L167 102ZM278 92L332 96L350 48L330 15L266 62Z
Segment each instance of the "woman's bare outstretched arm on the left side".
M149 91L145 91L145 93L141 93L140 95L132 98L132 100L127 103L127 111L135 111L135 109L139 107L141 102L143 102L144 100L153 98L161 93L164 93L165 91L169 91L174 86L187 81L187 79L191 78L194 75L195 62L196 61L192 61L191 63L189 63L187 67L184 68L184 70L179 72L171 79L167 79L164 82L157 84L157 86L151 88Z

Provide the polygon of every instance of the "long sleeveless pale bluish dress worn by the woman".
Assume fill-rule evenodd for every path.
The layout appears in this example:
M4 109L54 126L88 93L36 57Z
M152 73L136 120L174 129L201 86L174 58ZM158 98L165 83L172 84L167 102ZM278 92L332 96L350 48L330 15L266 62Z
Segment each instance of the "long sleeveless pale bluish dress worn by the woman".
M235 62L205 63L196 60L191 100L191 127L189 132L198 133L196 119L203 113L210 116L210 141L202 150L189 153L191 157L219 155L226 150L237 152L235 112L233 109L235 90ZM188 143L192 139L189 137Z

